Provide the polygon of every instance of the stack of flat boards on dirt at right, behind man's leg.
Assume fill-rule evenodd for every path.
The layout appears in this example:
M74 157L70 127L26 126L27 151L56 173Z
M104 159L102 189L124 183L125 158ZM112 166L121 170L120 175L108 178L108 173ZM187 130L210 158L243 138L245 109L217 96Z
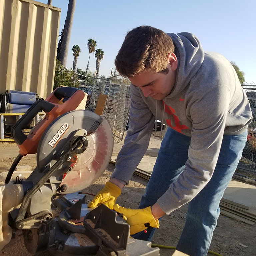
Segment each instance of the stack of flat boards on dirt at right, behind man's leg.
M254 225L256 223L256 186L231 180L220 201L220 212Z

